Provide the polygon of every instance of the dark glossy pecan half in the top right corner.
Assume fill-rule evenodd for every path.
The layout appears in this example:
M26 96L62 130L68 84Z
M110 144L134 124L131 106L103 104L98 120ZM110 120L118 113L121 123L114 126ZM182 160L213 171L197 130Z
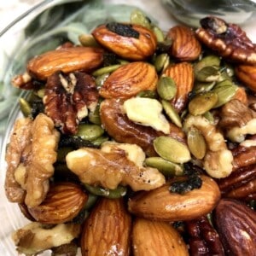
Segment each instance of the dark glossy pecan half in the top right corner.
M195 33L207 47L229 61L256 64L256 46L240 26L228 24L215 16L203 18L200 23L201 27Z

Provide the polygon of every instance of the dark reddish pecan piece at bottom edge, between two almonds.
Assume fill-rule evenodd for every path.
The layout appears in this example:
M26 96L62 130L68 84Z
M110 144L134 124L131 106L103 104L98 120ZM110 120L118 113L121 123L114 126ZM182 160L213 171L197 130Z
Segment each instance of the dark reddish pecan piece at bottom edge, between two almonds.
M189 255L224 256L224 248L219 240L218 233L212 228L205 216L189 220L185 223L189 233Z

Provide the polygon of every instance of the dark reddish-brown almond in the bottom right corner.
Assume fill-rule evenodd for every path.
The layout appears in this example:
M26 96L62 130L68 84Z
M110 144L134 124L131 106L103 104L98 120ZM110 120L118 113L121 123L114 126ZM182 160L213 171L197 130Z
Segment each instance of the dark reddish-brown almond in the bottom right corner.
M227 255L256 255L256 212L241 201L222 199L214 220Z

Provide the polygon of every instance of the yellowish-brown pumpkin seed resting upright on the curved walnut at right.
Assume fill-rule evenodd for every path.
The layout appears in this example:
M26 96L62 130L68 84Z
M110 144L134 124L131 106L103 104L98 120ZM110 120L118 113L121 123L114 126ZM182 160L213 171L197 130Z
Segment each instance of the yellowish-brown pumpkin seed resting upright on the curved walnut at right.
M191 154L197 159L203 159L207 152L207 143L201 132L196 128L191 128L188 131L187 138Z

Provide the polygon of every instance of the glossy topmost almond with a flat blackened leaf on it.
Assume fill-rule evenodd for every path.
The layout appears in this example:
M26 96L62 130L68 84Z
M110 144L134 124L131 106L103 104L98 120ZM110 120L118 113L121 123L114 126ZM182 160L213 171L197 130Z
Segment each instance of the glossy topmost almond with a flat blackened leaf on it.
M133 61L142 61L156 49L154 32L145 26L111 22L92 32L98 44Z

